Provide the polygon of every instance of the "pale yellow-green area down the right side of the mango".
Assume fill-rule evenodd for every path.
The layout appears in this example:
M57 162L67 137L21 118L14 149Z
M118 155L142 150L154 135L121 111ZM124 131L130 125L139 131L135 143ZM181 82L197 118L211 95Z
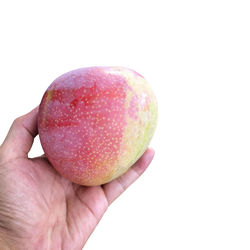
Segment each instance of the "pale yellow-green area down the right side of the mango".
M130 117L126 112L127 125L123 131L118 161L113 170L112 179L125 173L145 152L153 137L158 116L156 98L145 79L126 69L122 74L133 91L128 90L127 92L125 109L129 109L130 101L135 93L149 97L149 103L139 106L136 119Z

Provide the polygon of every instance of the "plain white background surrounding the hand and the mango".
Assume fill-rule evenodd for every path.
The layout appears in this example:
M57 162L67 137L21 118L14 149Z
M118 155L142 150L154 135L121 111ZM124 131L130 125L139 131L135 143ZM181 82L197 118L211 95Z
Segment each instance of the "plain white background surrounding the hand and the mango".
M133 68L158 98L155 159L84 249L250 249L248 2L1 1L1 141L79 67Z

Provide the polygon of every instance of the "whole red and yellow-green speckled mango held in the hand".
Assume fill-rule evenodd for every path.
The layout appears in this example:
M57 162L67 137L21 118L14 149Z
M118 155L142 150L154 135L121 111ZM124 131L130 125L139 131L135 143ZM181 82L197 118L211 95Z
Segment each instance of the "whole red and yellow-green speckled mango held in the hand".
M38 114L40 141L53 167L95 186L125 173L145 152L157 123L145 79L123 67L90 67L57 78Z

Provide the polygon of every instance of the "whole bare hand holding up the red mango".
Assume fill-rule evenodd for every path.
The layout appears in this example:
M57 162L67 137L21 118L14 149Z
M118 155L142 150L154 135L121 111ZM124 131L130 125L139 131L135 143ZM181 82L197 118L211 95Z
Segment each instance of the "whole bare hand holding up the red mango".
M123 176L85 187L60 176L45 156L28 158L38 108L17 118L0 147L0 249L80 250L108 206L150 164L148 149Z

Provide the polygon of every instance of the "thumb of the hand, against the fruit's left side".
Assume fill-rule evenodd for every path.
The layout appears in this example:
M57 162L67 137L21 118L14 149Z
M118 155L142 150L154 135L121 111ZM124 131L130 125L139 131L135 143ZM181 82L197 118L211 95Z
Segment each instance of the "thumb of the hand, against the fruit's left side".
M5 158L28 157L28 153L36 137L38 107L13 122L3 145Z

